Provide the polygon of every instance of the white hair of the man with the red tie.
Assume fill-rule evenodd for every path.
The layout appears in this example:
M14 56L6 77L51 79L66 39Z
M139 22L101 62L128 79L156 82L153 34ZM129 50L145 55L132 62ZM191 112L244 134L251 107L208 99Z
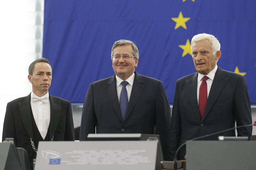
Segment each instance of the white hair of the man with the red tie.
M191 40L191 51L192 51L192 45L194 42L200 41L200 40L205 40L208 39L210 40L211 44L212 44L212 51L213 51L213 55L215 55L217 53L217 51L220 51L220 42L219 40L214 37L211 34L197 34L195 35L192 40Z

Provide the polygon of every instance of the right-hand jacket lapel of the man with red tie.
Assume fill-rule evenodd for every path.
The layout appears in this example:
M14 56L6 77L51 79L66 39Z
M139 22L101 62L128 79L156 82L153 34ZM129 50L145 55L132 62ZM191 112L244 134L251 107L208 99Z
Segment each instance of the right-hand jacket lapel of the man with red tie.
M220 92L222 91L222 89L223 89L224 85L227 83L227 81L228 81L228 78L224 79L222 70L218 66L218 69L215 73L213 83L212 83L212 86L210 89L210 93L209 93L209 96L207 99L207 103L205 106L205 111L204 111L204 115L202 117L202 121L205 119L207 114L210 112L213 104L217 100L218 96L220 95Z

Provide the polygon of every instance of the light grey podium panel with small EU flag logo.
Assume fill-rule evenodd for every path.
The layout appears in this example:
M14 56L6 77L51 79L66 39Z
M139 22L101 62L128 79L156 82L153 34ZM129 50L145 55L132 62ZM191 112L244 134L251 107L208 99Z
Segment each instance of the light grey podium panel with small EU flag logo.
M157 144L157 141L40 141L35 170L155 170Z

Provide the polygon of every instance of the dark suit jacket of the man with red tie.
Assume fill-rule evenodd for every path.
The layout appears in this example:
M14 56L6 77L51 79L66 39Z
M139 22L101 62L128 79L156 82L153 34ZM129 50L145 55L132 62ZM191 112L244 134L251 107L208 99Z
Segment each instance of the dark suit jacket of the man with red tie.
M182 143L206 134L237 126L252 124L250 98L244 76L221 70L218 66L205 111L201 119L197 102L197 77L194 73L176 82L171 118L172 160ZM252 135L252 126L237 129L238 136ZM235 136L230 130L203 140L217 140L218 136ZM184 159L185 147L180 151Z

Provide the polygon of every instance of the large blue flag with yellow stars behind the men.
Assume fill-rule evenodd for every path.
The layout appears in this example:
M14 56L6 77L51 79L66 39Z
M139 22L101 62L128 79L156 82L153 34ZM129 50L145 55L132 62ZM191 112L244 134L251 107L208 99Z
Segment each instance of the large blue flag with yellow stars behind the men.
M114 75L111 48L133 41L136 71L161 80L173 103L176 80L196 72L190 41L221 43L221 69L245 76L256 103L255 0L45 0L43 57L53 69L50 94L83 103L90 83Z

